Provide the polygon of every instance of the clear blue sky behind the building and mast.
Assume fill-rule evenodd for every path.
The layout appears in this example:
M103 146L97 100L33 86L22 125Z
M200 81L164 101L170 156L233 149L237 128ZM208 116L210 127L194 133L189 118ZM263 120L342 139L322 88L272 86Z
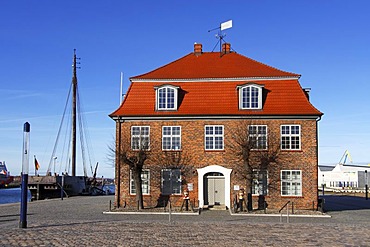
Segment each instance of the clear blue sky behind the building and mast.
M236 52L301 74L302 87L312 89L311 102L325 114L320 164L338 162L347 149L354 163L368 164L369 10L366 0L0 1L0 159L20 174L28 121L31 158L45 173L77 49L98 176L113 177L107 156L115 123L108 114L119 105L120 72L125 91L129 77L192 52L194 42L211 51L216 33L207 31L232 19L225 40Z

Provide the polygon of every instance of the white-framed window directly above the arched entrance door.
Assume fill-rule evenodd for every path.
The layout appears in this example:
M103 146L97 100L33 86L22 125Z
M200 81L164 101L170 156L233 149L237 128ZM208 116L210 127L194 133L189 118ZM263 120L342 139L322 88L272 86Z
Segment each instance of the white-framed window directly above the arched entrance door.
M224 149L224 126L206 125L204 127L205 150Z

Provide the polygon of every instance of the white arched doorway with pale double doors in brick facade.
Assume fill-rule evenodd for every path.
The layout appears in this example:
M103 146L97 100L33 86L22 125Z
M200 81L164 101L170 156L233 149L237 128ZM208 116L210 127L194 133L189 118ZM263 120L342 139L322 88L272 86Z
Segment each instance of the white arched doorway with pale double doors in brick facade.
M231 169L212 165L197 171L199 207L219 204L230 208Z

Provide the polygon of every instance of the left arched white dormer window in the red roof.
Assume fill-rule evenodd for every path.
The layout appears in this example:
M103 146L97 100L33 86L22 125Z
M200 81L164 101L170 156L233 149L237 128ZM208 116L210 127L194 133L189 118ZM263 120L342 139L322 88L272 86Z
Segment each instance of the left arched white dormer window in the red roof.
M156 109L177 110L177 92L179 87L163 85L155 87L156 90Z

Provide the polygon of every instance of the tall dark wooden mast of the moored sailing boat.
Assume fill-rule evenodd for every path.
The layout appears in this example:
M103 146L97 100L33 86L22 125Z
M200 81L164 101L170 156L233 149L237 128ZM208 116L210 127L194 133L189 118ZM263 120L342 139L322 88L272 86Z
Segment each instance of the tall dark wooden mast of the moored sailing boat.
M72 77L72 176L76 176L76 112L77 112L77 66L76 49L73 52Z

